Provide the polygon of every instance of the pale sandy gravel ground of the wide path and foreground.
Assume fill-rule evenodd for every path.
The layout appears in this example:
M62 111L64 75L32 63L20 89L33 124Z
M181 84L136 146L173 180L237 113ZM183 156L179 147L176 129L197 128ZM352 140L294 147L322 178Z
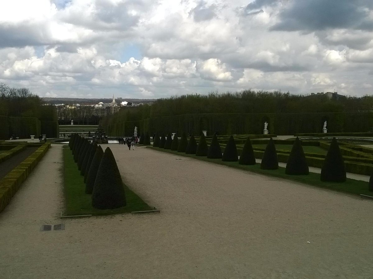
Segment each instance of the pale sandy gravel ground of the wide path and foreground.
M161 212L59 219L62 153L53 145L0 214L1 278L372 277L373 201L110 148L125 183ZM61 222L63 231L39 231Z

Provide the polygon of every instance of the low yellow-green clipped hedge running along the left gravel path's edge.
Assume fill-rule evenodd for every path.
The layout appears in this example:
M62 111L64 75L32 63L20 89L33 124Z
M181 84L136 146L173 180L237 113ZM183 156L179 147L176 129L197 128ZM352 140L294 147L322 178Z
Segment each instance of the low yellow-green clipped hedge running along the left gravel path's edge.
M0 212L8 205L22 182L26 180L49 148L50 142L43 144L0 180Z

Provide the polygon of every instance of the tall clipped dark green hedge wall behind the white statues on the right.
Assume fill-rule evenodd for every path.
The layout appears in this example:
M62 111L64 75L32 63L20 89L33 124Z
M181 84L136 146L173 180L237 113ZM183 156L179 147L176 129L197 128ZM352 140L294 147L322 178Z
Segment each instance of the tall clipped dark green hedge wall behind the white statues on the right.
M114 120L113 120L114 121ZM324 121L328 132L368 132L373 128L373 113L196 113L147 118L139 121L113 123L107 121L105 131L110 136L132 134L135 126L151 135L158 131L186 132L207 135L262 134L268 122L271 134L294 135L320 133Z

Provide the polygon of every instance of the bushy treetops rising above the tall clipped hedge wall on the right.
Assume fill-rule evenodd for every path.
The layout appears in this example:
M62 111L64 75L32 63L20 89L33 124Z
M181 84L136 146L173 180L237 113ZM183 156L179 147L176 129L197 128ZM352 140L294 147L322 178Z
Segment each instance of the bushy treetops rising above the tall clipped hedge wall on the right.
M371 112L373 96L347 96L339 100L325 94L295 95L280 91L243 90L240 92L213 92L187 94L157 99L152 105L141 105L132 110L120 110L103 119L103 123L138 121L141 119L193 113L327 113Z

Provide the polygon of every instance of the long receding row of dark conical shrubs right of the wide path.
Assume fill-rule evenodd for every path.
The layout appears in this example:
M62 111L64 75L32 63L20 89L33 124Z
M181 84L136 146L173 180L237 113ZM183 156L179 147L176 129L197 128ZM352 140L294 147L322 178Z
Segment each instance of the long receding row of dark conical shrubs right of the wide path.
M167 136L164 135L159 140L159 134L156 134L155 146L164 149L177 150L178 152L185 152L186 154L196 154L197 156L207 156L211 159L222 159L223 161L239 161L242 165L254 165L256 164L254 150L250 142L250 138L245 141L244 147L241 152L241 156L238 160L237 148L233 136L231 136L226 144L225 150L222 153L217 136L214 135L210 147L208 147L206 138L204 134L201 134L199 143L195 141L192 135L189 142L186 138L186 134L183 133L181 140L178 141L177 135L172 140L171 134ZM178 147L176 148L176 145ZM264 151L260 168L266 170L276 170L278 169L278 158L275 143L272 138L270 138L267 147ZM294 141L293 147L289 154L288 162L285 169L286 174L300 175L308 174L309 168L307 160L303 151L301 141L297 137ZM372 173L373 177L373 173ZM329 182L344 182L346 181L346 171L344 167L344 160L339 150L338 142L336 138L333 138L326 158L323 163L321 170L320 179L322 181ZM373 190L373 178L370 182L370 188Z

